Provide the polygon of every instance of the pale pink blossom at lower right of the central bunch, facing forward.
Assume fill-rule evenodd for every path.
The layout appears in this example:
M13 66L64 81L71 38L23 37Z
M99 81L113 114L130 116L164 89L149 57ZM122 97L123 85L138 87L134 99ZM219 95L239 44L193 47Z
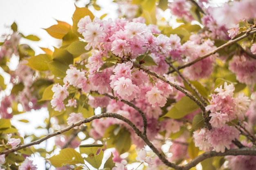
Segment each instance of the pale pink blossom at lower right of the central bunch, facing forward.
M153 106L163 107L166 104L166 97L163 97L162 94L164 92L159 91L158 88L153 87L150 91L146 93L146 97L148 98L148 102Z

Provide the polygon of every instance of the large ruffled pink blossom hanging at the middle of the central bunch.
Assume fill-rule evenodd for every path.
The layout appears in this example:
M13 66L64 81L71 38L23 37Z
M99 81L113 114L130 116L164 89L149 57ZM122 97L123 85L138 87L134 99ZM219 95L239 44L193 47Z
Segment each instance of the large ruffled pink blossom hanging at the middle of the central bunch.
M118 78L113 83L114 92L121 97L121 99L131 101L140 92L138 86L132 84L132 80L129 78Z

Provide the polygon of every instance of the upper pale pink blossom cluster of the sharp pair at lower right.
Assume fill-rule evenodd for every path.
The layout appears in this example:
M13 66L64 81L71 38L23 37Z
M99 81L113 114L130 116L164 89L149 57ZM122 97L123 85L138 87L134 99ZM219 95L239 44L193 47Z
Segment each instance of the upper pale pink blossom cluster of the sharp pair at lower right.
M214 91L217 94L211 94L211 101L208 106L205 107L207 111L211 111L209 117L211 120L209 123L214 128L222 128L225 124L231 120L238 118L243 120L248 106L250 104L249 97L240 93L237 97L234 97L234 85L227 84L225 82L224 88L222 85L216 88Z

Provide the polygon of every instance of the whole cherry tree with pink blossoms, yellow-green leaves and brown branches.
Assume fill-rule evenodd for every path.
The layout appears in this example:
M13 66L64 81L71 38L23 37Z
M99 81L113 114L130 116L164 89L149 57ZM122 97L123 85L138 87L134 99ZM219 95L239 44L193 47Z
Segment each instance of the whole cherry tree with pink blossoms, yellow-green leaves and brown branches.
M39 38L16 23L3 36L0 168L39 169L39 154L49 170L255 170L254 0L113 3L119 18L95 0L45 29L54 51L20 44ZM42 108L48 133L20 135L13 115Z

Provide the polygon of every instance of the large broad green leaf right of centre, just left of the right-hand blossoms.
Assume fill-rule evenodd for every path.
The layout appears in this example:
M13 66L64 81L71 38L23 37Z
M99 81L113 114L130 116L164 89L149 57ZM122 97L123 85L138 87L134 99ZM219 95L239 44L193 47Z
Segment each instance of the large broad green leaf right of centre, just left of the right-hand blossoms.
M164 115L173 119L180 119L189 113L198 110L199 106L189 97L182 97L174 106Z

